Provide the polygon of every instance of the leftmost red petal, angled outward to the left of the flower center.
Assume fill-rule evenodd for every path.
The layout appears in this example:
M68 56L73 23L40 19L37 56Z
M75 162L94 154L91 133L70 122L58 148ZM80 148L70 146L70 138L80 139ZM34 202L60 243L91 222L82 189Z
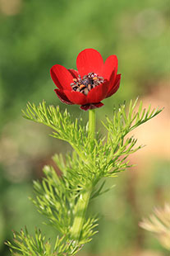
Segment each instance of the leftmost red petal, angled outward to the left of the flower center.
M50 73L53 79L53 83L56 84L57 88L71 91L73 76L65 67L56 64L50 69Z

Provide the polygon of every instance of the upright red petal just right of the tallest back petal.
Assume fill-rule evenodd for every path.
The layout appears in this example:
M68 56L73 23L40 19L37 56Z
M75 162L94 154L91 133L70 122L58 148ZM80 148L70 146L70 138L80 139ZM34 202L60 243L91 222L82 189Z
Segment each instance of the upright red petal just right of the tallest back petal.
M117 66L118 66L117 56L110 55L108 59L106 59L103 66L103 74L102 74L103 78L109 81L114 70L114 79L115 79L117 75Z

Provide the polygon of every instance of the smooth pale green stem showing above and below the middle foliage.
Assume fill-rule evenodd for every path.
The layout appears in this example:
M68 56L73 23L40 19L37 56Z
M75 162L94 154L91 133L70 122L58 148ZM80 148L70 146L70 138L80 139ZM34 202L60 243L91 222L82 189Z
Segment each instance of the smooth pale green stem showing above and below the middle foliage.
M95 136L95 111L89 111L89 135L91 136L91 140L94 140ZM87 187L82 190L80 197L76 203L75 208L75 220L73 221L73 225L71 227L71 239L75 239L77 241L80 240L80 232L85 223L85 213L87 211L87 207L90 201L90 195L92 192L92 187Z

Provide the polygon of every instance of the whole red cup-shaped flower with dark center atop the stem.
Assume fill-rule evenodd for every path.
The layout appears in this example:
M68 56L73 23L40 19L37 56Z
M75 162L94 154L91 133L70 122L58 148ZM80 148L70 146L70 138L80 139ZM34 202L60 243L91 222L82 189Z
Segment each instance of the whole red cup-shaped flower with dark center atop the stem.
M77 56L76 67L78 71L56 64L50 69L57 86L54 91L62 102L88 110L102 107L101 101L117 92L121 74L117 74L116 55L110 55L103 63L97 50L85 49Z

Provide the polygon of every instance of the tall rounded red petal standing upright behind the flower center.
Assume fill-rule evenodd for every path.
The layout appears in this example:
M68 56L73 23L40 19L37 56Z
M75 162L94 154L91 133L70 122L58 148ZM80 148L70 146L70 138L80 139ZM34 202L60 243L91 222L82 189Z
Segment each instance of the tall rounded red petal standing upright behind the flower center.
M76 67L81 77L91 72L101 75L103 58L97 50L85 49L77 56Z

